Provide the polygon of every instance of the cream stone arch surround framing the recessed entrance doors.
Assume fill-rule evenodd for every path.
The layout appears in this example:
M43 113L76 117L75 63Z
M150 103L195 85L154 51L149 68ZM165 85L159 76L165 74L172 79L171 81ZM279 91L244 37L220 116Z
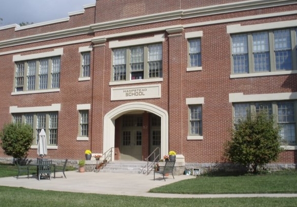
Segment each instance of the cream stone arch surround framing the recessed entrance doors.
M110 110L104 116L103 152L114 147L115 120L129 112L147 111L161 118L161 155L168 152L168 113L166 110L145 102L127 103ZM112 156L114 160L114 155Z

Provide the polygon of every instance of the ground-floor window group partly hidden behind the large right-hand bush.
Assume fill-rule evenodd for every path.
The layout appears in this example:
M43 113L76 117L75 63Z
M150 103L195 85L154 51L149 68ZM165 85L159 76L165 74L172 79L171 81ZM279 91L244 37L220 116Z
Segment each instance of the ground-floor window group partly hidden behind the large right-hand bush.
M236 103L233 104L234 122L236 124L239 119L244 119L249 110L251 112L267 110L268 115L274 115L276 124L281 126L280 135L283 141L288 145L296 145L296 104L297 101Z

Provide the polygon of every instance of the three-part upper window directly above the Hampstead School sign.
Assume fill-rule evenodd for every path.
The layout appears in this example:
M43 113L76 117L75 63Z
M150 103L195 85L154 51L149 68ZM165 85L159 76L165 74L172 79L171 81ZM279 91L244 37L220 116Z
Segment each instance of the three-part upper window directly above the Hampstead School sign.
M162 44L113 50L113 81L162 78Z

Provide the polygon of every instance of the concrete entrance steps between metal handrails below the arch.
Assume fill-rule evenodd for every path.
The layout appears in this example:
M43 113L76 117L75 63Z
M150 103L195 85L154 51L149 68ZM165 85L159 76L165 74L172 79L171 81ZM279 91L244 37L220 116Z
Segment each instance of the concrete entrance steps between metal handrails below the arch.
M145 161L114 161L109 162L103 169L100 170L101 173L129 173L129 174L146 174L147 162ZM143 167L145 167L143 169ZM151 169L149 169L151 170Z

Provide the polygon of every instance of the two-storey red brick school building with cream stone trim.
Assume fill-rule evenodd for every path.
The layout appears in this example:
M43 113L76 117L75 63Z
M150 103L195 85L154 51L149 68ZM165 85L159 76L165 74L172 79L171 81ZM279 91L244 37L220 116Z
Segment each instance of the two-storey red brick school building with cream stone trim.
M223 161L230 128L267 108L297 162L297 2L97 0L68 18L0 27L0 126L46 129L52 159L86 149ZM7 158L0 149L0 157Z

